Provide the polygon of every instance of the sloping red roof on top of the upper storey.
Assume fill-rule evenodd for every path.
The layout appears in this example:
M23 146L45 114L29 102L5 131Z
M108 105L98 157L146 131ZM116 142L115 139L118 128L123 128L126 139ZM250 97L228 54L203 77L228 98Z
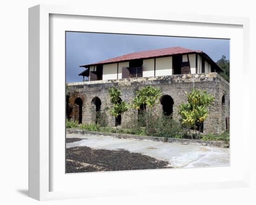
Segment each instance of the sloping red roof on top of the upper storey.
M110 58L107 60L99 61L94 64L81 65L80 67L89 67L89 66L93 66L93 65L97 65L97 64L117 63L117 62L123 62L123 61L134 60L134 59L145 59L145 58L171 56L171 55L183 54L183 53L202 53L202 51L191 50L191 49L176 46L176 47L170 47L170 48L161 48L161 49L155 49L155 50L128 53L123 56L118 56L115 58Z

